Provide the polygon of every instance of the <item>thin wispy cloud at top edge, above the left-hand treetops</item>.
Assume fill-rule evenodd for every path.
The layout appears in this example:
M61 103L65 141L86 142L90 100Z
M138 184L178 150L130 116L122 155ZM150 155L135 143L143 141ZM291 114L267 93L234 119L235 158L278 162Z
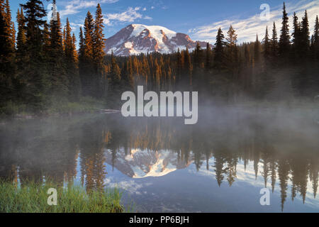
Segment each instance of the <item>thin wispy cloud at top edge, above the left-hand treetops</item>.
M97 4L112 4L118 0L72 0L67 2L65 9L60 11L61 16L67 16L71 14L79 13L81 9L86 9L90 7L95 7Z

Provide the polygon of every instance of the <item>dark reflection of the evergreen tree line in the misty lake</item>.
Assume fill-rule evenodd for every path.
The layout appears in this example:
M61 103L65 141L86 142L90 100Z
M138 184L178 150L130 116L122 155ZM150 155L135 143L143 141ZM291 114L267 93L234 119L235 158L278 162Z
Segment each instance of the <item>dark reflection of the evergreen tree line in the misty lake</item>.
M245 170L253 165L256 179L261 175L272 192L279 184L284 209L288 190L292 200L300 194L303 202L309 185L313 197L317 194L316 135L318 126L306 119L227 109L201 114L194 126L179 118L120 114L9 121L0 126L0 176L21 184L50 178L63 185L79 175L88 191L99 190L108 177L106 163L129 177L137 173L127 163L142 163L142 174L150 176L165 153L160 176L169 172L165 167L194 163L197 170L213 171L219 186L232 186L237 164L243 162Z

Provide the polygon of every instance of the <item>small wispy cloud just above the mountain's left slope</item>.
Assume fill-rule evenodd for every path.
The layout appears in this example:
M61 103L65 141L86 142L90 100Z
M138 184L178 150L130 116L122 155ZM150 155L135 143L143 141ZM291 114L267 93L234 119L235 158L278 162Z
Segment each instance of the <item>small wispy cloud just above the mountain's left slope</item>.
M137 19L147 19L151 20L152 18L150 16L143 16L140 11L145 11L144 8L141 9L141 7L128 7L127 10L121 12L121 13L107 13L104 18L104 23L106 23L108 26L113 25L113 21L118 22L134 22Z

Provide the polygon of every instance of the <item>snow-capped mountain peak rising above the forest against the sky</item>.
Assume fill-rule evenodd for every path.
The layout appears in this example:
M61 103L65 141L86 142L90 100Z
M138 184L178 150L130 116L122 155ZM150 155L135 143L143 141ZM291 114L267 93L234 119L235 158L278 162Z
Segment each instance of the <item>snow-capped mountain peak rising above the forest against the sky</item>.
M147 52L171 53L178 48L189 50L196 47L195 41L189 35L176 33L162 26L145 26L131 24L106 40L105 52L117 56L139 55ZM207 43L198 43L206 48Z

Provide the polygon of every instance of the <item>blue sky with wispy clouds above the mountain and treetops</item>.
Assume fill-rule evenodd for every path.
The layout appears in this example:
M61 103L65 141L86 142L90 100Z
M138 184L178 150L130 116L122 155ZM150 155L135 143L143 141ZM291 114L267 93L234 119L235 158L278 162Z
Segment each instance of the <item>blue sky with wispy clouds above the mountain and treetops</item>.
M10 0L9 0L10 1ZM18 4L26 1L10 1L13 18ZM43 1L47 9L50 1ZM95 13L96 4L100 3L104 15L106 38L114 35L130 23L164 26L170 30L186 33L193 40L215 43L216 31L221 27L226 33L230 24L237 30L240 42L254 40L256 33L264 36L266 26L276 21L277 32L281 26L281 8L283 1L278 0L57 0L57 9L72 23L74 33L79 33L79 26L84 23L87 11ZM269 21L261 20L259 15L262 4L269 4ZM290 22L293 11L301 19L308 10L310 31L313 31L315 15L319 14L318 0L286 1Z

